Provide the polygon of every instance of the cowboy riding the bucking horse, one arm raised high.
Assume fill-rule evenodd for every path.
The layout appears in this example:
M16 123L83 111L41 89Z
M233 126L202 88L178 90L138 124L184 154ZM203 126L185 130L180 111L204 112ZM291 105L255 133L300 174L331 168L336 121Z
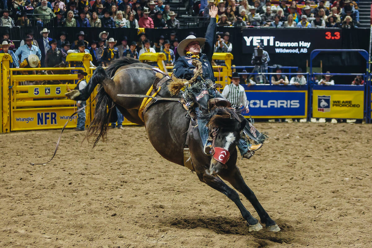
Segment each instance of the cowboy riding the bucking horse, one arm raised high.
M192 61L193 59L198 60L202 63L202 75L203 78L200 76L197 78L198 81L215 81L214 73L211 65L212 55L214 50L214 39L216 34L216 16L217 16L218 8L216 6L212 6L209 10L209 15L211 16L211 20L208 25L207 32L205 34L206 38L196 38L194 35L189 35L180 42L177 47L177 52L179 53L180 57L174 63L173 67L173 74L178 78L184 78L186 80L190 80L195 72L199 70L196 68ZM203 53L201 53L201 48L203 48ZM196 82L195 82L196 83ZM208 83L210 85L210 83ZM206 109L206 106L202 106L202 104L206 104L208 98L214 98L216 96L223 97L218 91L215 90L214 87L206 89L207 83L202 85L201 94L198 95L199 100L198 103ZM182 92L181 92L182 94ZM190 104L190 103L186 103ZM199 106L198 104L198 106ZM195 108L197 118L200 114L199 107ZM207 121L205 119L198 119L198 129L199 133L204 145L203 151L205 154L210 155L210 151L212 148L212 143L208 140L208 128L206 127ZM251 151L256 151L257 149L261 148L262 144L248 147L247 142L244 139L240 139L238 144L238 148L240 150L241 155L244 158L251 157Z

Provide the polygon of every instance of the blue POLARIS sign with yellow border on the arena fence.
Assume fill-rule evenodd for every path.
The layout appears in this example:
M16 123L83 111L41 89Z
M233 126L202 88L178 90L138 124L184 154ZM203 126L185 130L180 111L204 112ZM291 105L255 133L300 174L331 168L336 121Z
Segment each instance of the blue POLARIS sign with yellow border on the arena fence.
M264 87L264 86L263 86ZM255 89L256 87L254 87ZM257 87L258 88L258 87ZM306 117L307 91L246 91L249 114L254 117Z

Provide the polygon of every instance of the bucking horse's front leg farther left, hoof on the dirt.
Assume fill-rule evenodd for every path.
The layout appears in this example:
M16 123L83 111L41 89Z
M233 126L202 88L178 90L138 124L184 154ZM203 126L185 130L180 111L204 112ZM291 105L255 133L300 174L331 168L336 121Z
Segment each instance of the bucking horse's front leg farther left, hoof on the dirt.
M198 172L197 172L198 173ZM250 212L244 207L243 203L241 203L239 194L227 186L224 181L221 180L218 176L212 176L207 171L202 174L198 174L199 180L203 183L208 184L213 189L218 190L219 192L225 194L232 200L240 210L241 215L244 219L247 220L248 231L260 231L262 229L261 224L258 222L256 218L254 218Z

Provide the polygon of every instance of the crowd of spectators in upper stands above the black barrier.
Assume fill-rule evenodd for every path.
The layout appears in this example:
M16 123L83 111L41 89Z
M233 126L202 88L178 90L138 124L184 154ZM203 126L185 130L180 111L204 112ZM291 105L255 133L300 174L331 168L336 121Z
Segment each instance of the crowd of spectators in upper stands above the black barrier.
M193 0L189 0L190 5ZM199 16L218 6L218 26L356 28L352 0L201 0ZM179 28L163 0L1 0L0 26ZM31 19L31 20L30 20Z

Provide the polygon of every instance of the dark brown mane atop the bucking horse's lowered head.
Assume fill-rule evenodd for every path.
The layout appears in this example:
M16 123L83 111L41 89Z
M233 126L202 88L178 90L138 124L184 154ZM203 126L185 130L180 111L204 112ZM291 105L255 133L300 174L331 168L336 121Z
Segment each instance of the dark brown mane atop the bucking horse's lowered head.
M207 127L214 128L232 128L236 122L241 122L238 115L241 110L235 110L227 107L214 107L209 113L199 114L198 118L208 120Z

